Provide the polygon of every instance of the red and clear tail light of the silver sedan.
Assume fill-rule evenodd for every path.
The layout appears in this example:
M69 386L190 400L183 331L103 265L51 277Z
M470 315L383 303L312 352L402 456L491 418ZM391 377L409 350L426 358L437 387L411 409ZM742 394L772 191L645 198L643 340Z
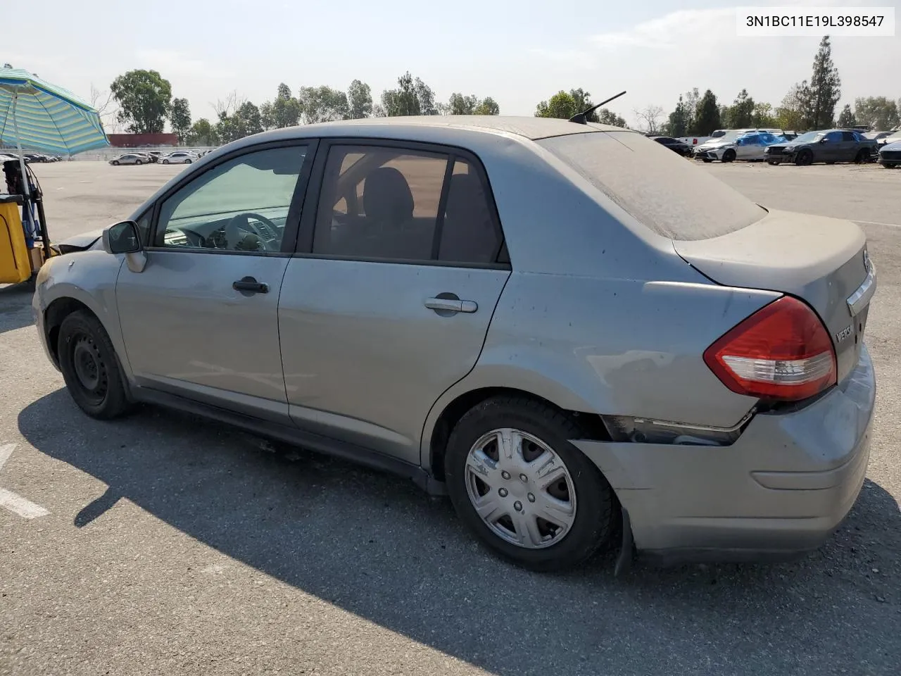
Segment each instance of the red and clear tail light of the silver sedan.
M820 318L781 297L735 326L704 352L706 365L733 392L797 401L835 384L835 350Z

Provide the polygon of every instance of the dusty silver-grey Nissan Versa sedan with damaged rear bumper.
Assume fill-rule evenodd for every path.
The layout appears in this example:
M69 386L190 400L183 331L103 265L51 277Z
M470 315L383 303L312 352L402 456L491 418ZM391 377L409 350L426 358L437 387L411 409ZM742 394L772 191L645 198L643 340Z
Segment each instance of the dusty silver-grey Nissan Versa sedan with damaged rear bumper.
M636 132L265 132L59 251L34 311L88 416L149 402L396 471L533 569L796 555L867 470L860 228Z

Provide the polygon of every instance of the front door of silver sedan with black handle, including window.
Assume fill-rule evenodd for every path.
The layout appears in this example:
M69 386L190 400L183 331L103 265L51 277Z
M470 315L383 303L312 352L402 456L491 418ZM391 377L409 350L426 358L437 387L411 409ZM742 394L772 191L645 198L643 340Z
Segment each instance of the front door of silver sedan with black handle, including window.
M155 206L141 271L116 303L145 388L287 422L278 294L305 190L309 144L268 144L189 174Z

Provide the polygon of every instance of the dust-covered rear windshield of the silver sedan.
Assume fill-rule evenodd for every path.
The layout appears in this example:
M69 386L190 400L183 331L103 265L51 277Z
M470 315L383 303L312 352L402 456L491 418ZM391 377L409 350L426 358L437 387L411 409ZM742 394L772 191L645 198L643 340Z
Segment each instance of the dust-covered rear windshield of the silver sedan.
M691 160L639 133L578 133L538 143L669 239L719 237L767 214Z

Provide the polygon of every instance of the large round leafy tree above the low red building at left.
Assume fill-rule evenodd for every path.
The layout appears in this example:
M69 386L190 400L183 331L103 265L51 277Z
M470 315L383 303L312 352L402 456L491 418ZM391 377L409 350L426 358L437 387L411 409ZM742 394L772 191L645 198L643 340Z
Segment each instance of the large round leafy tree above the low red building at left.
M172 86L156 70L129 70L110 85L119 104L119 121L136 133L161 133L166 124Z

